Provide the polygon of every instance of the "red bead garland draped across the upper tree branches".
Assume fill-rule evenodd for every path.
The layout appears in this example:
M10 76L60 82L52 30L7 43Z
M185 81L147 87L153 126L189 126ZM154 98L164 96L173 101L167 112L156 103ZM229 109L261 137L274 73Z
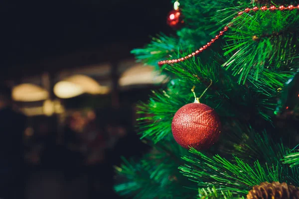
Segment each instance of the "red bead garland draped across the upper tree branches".
M258 11L258 10L266 11L266 10L268 10L268 9L271 10L271 11L278 10L278 9L281 10L281 11L283 11L283 10L293 10L293 9L299 9L299 5L297 5L297 6L294 6L294 5L288 5L287 7L285 7L284 5L281 5L281 6L279 6L279 7L276 7L275 5L271 5L269 8L268 8L267 6L265 6L265 5L262 6L261 8L259 8L259 7L257 7L257 6L254 6L253 8L246 7L244 11L240 11L240 12L238 12L238 15L235 16L233 19L237 18L238 16L241 16L244 12L245 12L245 13L248 13L248 12L250 12L250 11ZM211 44L214 43L217 39L219 39L219 37L220 37L221 35L223 35L224 32L227 31L228 28L229 28L230 26L232 26L232 25L233 25L232 22L228 23L228 25L225 26L225 27L223 28L223 30L221 30L221 31L219 32L219 35L215 35L215 38L211 39L210 42L208 42L206 45L202 46L201 48L199 48L199 49L196 50L195 52L193 52L193 53L191 53L191 54L189 54L189 55L187 55L187 56L185 56L185 57L178 58L178 59L162 60L162 61L159 61L159 62L158 62L158 65L159 65L159 66L162 66L162 65L164 65L164 64L177 63L177 62L184 61L185 59L189 59L189 58L191 58L191 57L194 57L195 55L201 53L203 50L207 49L208 46L211 46Z

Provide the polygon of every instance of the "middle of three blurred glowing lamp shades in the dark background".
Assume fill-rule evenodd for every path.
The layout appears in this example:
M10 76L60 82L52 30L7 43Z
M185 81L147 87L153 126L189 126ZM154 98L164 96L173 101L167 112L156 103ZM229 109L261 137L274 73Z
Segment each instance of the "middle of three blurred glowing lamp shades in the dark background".
M101 86L97 81L85 75L71 76L54 86L54 94L62 99L74 98L84 93L99 95L108 92L109 88Z

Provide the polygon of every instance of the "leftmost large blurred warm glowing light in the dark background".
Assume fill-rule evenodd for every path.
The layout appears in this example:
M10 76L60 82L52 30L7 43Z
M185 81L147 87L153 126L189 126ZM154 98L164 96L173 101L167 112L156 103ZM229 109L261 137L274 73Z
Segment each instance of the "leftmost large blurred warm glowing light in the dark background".
M12 89L12 99L15 101L41 101L48 97L45 89L33 84L21 84Z

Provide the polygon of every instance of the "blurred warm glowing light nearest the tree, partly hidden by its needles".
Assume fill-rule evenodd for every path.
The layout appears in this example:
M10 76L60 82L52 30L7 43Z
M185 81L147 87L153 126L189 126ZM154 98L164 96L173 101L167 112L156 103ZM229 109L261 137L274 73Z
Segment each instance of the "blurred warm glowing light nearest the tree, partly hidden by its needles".
M159 75L154 71L154 67L137 65L122 74L119 85L124 87L130 85L160 84L164 81L166 81L166 76Z

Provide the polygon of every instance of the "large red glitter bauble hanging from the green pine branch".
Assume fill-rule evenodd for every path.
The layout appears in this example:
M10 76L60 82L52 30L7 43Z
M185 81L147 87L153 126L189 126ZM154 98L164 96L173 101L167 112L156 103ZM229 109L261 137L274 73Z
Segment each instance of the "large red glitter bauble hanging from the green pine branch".
M175 113L171 129L180 146L202 150L218 140L221 123L213 108L203 103L188 103Z

